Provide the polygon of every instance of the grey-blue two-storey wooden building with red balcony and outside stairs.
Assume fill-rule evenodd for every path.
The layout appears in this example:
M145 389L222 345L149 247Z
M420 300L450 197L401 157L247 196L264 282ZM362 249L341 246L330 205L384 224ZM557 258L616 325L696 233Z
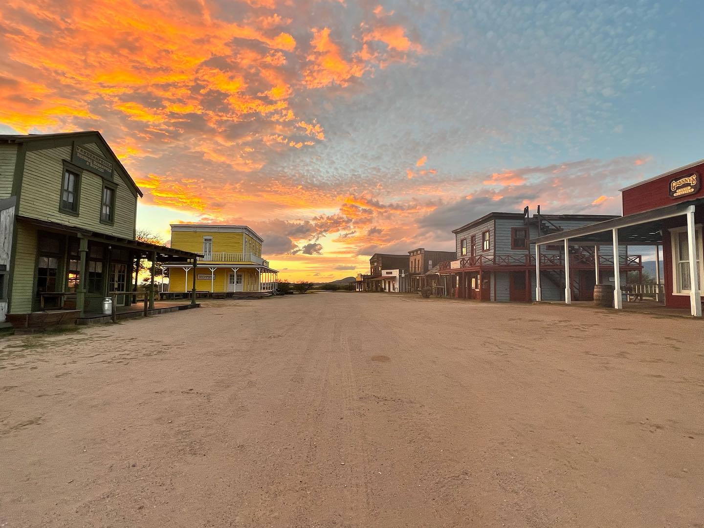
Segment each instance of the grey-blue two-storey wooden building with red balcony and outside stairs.
M489 213L453 230L456 258L440 264L446 291L458 298L482 301L529 302L535 299L532 281L536 276L536 258L530 239L541 234L562 232L572 227L611 220L606 215L540 215L524 213ZM620 246L621 274L641 271L641 256L627 255ZM610 248L593 244L565 247L551 244L539 256L543 277L543 299L561 300L569 290L572 298L593 298L598 268L601 280L613 282L613 254ZM571 272L565 276L565 261ZM566 286L566 285L569 286Z

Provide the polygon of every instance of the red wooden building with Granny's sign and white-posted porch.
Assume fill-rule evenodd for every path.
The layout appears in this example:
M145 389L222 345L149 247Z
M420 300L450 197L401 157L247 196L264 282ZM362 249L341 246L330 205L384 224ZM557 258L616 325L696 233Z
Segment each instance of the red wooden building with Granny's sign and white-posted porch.
M662 245L665 306L690 308L702 315L702 225L704 160L636 183L622 190L623 216L598 224L548 234L534 240L536 254L554 244ZM659 265L658 265L659 269ZM614 308L622 308L622 289L615 281ZM540 300L541 284L536 285ZM569 300L567 300L569 302Z

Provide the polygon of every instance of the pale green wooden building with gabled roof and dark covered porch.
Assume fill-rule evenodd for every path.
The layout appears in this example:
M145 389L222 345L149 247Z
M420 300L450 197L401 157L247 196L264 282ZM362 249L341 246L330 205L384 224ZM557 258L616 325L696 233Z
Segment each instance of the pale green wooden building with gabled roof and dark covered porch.
M134 289L140 259L194 262L135 240L141 197L99 132L0 135L0 321L100 313L103 298Z

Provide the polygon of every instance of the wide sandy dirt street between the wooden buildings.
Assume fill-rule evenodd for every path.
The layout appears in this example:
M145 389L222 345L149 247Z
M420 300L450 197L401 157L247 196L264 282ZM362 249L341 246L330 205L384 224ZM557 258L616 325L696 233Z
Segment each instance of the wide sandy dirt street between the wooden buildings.
M321 293L0 341L2 527L702 527L704 326Z

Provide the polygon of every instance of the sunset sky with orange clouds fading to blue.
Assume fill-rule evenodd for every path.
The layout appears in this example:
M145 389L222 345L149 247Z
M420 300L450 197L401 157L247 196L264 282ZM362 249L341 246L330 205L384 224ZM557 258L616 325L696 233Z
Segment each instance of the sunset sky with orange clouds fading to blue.
M99 130L138 227L246 224L316 281L704 158L702 2L528 4L4 0L0 133Z

